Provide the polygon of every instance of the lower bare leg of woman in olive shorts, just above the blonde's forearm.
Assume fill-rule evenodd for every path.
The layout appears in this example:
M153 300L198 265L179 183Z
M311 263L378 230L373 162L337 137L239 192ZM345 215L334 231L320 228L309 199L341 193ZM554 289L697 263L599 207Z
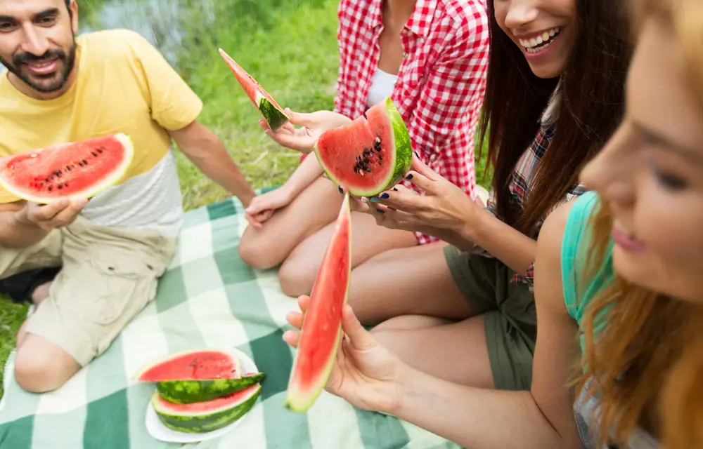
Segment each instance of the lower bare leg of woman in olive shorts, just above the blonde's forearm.
M413 368L457 384L494 388L483 316L456 323L399 316L372 333Z

